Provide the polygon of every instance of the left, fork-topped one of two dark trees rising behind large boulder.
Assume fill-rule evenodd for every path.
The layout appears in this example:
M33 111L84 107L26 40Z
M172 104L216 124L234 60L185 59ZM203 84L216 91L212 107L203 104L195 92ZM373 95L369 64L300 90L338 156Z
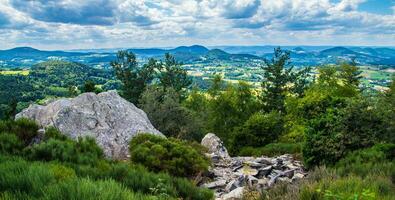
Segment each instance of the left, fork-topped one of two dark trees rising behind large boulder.
M110 65L122 82L122 96L137 104L144 89L152 81L158 62L150 59L147 64L139 67L136 56L132 52L118 51L116 60Z

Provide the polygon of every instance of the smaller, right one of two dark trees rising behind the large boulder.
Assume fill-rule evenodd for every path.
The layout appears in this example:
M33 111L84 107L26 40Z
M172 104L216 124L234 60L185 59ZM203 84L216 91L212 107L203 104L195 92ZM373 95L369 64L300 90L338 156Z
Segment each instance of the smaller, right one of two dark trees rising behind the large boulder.
M192 83L187 71L181 68L181 63L177 62L174 56L168 53L165 54L164 63L161 63L159 80L163 88L171 87L176 92L189 87Z

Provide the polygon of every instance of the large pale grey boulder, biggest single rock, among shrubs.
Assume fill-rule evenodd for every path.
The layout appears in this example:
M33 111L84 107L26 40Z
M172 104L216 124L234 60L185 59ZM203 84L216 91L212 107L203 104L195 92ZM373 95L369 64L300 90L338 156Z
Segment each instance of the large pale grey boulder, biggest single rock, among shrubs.
M90 136L115 159L128 157L128 143L138 133L162 135L144 111L118 95L116 91L84 93L41 106L33 104L16 118L34 119L41 127L54 126L76 139Z

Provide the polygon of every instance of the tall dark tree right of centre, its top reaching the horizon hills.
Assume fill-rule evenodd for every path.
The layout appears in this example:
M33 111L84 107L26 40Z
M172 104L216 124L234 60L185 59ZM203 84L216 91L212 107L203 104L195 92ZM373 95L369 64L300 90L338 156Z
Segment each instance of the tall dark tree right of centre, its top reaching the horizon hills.
M307 75L309 68L299 72L293 71L290 62L290 53L281 50L280 47L274 50L271 60L265 60L264 70L265 80L262 82L262 94L260 96L264 109L267 112L277 110L285 112L285 97L287 93L303 95L307 87Z

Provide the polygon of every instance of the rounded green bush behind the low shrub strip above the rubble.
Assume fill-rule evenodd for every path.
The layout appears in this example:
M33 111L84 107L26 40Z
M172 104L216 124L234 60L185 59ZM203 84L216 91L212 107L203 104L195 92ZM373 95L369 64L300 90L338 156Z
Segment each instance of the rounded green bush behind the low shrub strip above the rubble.
M262 147L274 142L283 132L282 116L278 112L256 113L243 126L236 128L231 142L231 152L242 147Z

